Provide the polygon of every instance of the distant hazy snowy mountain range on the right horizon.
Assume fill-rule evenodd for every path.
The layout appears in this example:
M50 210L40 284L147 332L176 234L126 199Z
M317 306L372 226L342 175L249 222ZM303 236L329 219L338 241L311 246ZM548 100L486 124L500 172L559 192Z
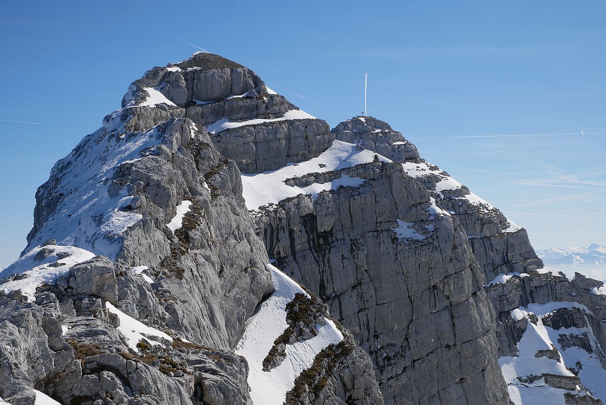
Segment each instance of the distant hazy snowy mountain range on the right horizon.
M586 247L553 247L539 249L536 253L545 266L564 272L568 278L579 272L588 277L606 280L606 246L590 244Z

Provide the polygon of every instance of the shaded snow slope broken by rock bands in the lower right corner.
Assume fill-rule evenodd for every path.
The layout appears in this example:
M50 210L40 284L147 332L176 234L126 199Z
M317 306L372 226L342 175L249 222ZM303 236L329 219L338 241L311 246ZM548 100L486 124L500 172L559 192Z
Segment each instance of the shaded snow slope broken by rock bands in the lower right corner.
M530 304L527 308L511 311L514 320L525 318L527 323L518 343L518 356L499 359L508 392L516 405L565 405L565 393L579 397L588 395L582 386L577 384L574 387L576 375L572 370L578 373L581 384L593 397L606 400L606 370L600 363L604 353L593 335L587 316L584 316L585 327L552 329L544 324L545 316L559 309L591 313L582 304L566 302ZM583 347L578 346L579 342ZM564 384L558 382L557 376L563 376ZM547 381L547 378L551 381ZM568 384L567 389L562 388L565 384Z

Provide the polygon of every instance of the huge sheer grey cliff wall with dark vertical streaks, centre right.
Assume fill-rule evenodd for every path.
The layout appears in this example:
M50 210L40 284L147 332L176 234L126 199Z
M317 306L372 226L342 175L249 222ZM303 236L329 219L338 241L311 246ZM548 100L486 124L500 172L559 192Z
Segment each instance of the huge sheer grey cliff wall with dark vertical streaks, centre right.
M493 313L461 227L400 164L347 175L367 181L255 214L270 257L370 353L385 403L507 404ZM398 220L421 238L398 238Z

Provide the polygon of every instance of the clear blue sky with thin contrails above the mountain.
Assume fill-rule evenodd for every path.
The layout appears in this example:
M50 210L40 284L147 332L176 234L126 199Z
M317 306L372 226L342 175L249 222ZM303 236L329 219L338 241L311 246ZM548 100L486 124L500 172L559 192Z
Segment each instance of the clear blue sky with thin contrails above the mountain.
M331 126L362 111L368 72L368 114L527 228L534 247L606 244L606 2L2 8L0 266L25 246L53 163L130 82L196 47L247 65ZM548 136L460 138L535 134Z

